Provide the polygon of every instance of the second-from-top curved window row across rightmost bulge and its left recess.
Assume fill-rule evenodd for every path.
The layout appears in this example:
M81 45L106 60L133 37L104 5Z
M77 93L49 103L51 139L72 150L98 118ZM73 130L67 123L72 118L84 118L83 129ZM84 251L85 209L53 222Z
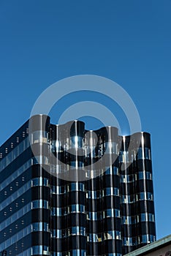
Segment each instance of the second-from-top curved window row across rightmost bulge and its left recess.
M152 180L152 174L148 171L144 171L135 174L121 175L121 182L123 183L134 182L141 179Z

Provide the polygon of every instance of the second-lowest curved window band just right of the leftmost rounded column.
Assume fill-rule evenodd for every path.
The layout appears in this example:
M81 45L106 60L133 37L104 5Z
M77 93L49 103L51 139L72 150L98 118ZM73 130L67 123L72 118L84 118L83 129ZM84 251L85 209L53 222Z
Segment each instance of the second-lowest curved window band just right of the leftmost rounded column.
M86 227L69 227L63 230L51 230L52 238L66 238L68 236L86 236Z

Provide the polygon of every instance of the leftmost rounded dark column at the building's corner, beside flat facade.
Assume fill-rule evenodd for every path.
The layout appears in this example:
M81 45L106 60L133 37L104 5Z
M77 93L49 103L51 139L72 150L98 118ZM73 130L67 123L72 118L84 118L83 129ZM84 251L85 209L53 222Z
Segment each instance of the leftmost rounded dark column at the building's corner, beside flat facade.
M32 254L39 255L50 253L50 166L47 143L49 126L50 118L45 115L32 116L29 121L32 150Z

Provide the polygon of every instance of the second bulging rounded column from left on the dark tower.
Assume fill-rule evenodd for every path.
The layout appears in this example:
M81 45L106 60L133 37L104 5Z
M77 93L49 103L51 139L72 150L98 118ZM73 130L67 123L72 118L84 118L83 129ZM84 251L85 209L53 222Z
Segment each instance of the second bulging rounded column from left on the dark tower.
M69 180L66 184L66 202L68 207L67 246L70 255L86 255L86 191L81 180L84 165L84 123L73 121L66 124L69 134L67 163Z

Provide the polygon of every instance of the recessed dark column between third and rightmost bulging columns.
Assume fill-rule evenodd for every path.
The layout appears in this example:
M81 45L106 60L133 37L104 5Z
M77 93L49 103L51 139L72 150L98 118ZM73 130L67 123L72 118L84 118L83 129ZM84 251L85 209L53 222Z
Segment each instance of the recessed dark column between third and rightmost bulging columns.
M136 170L134 167L134 140L132 136L121 138L120 171L121 171L121 215L123 255L137 248L136 219Z

